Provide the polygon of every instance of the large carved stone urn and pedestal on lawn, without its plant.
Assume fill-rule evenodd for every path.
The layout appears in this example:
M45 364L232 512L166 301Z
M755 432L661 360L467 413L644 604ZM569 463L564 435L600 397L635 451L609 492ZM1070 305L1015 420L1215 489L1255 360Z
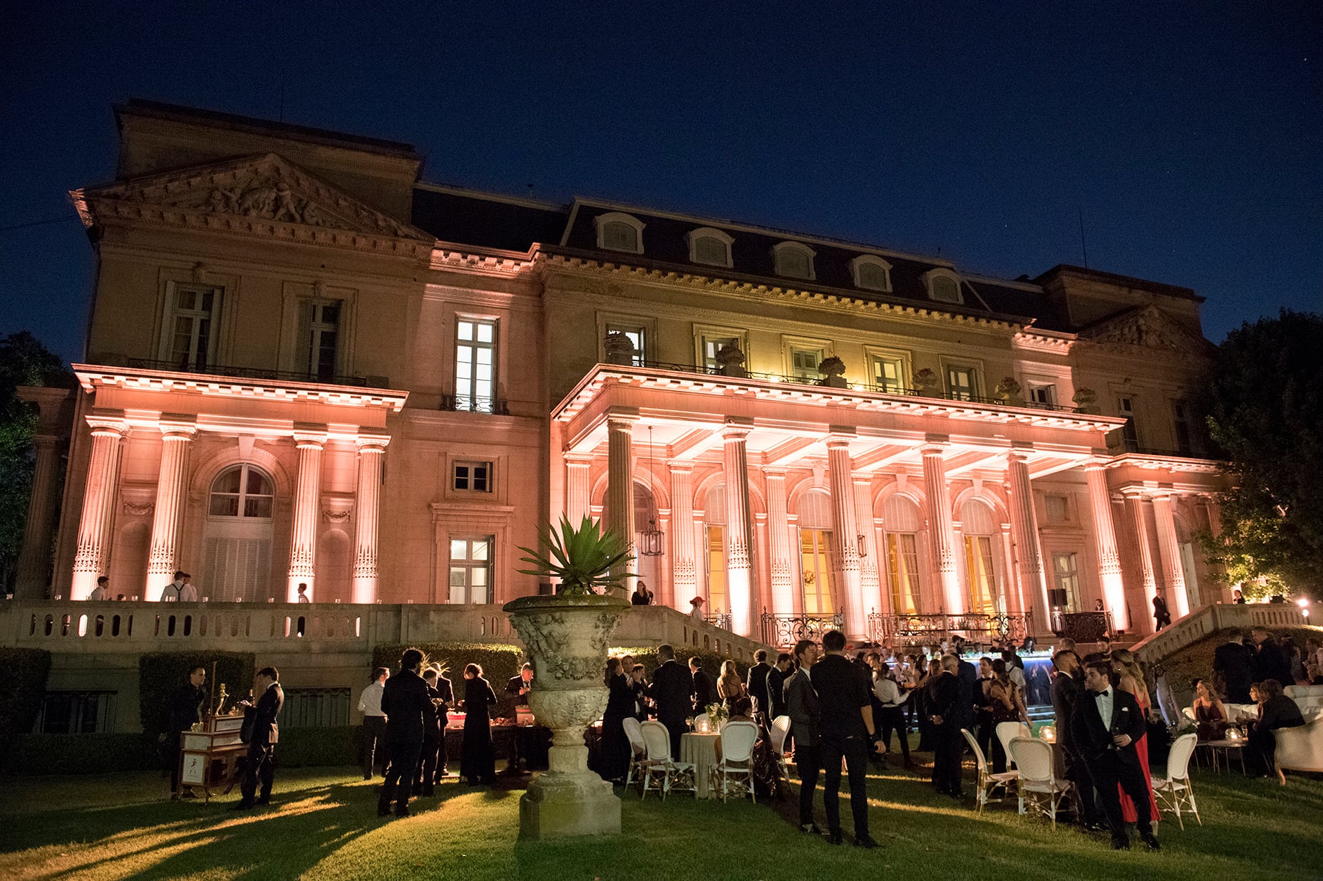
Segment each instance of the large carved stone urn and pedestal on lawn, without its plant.
M620 799L587 769L583 729L606 709L606 652L630 603L611 595L520 597L505 603L511 627L533 659L528 705L552 729L549 770L519 800L528 839L615 835Z

